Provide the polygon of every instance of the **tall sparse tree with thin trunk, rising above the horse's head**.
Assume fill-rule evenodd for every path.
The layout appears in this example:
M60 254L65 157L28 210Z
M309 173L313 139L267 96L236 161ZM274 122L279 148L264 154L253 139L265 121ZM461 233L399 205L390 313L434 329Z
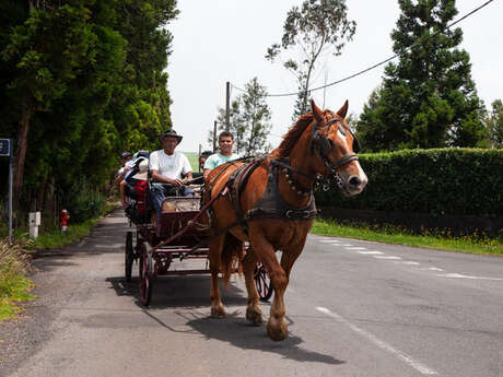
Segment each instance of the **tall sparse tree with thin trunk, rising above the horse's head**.
M348 20L346 0L304 0L301 8L293 7L289 11L281 44L269 47L266 59L272 62L281 52L292 54L283 67L295 75L299 84L294 120L307 113L308 90L316 63L324 55L341 55L355 28L356 23Z

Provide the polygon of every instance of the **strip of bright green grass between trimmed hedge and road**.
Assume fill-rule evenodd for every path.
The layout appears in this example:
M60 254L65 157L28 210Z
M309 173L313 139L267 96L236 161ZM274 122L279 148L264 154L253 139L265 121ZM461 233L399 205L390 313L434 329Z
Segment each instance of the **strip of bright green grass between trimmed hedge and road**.
M397 226L343 224L319 219L315 221L311 232L324 236L375 240L447 251L503 256L502 237L499 239L489 238L484 234L477 233L463 237L453 237L448 231L424 231L422 235L416 235Z

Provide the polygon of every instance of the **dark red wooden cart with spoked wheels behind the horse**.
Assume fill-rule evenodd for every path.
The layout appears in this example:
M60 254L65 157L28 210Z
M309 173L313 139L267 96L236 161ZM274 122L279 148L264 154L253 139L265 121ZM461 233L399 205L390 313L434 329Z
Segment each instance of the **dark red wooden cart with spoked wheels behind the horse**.
M132 266L138 262L140 301L145 306L151 303L157 276L210 273L206 243L211 236L208 226L201 223L206 209L200 209L200 197L168 197L165 204L167 210L163 210L152 224L152 209L145 191L132 203L137 211L138 208L143 211L129 216L134 219L131 223L136 225L136 232L129 231L126 234L125 274L126 280L131 281ZM184 260L200 260L201 267L180 269ZM272 287L266 269L260 263L255 269L255 284L260 299L268 301L272 295Z

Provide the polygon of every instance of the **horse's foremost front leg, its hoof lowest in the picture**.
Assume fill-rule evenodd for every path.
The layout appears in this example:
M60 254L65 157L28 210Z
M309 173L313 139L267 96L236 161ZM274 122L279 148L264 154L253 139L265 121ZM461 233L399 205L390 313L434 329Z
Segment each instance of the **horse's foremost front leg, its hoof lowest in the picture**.
M274 287L274 298L269 321L267 322L267 334L273 341L284 340L288 337L288 330L286 320L284 319L286 309L283 294L289 279L276 258L274 248L261 233L250 234L250 244L259 260L266 266L271 278L271 285Z

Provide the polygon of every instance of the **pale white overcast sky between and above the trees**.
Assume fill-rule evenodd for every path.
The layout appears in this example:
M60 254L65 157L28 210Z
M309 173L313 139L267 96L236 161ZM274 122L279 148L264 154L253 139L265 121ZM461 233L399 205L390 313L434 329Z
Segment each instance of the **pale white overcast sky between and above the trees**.
M487 0L458 0L458 20ZM245 87L254 76L270 94L296 92L296 80L277 61L265 59L267 48L281 42L288 11L302 0L178 0L177 20L166 27L174 36L167 68L174 129L184 136L178 150L210 149L209 131L225 107L225 83ZM328 57L311 87L351 75L394 56L390 33L399 8L396 0L347 1L356 32L342 55ZM494 0L458 23L464 33L461 48L470 55L471 74L479 97L489 108L503 98L503 0ZM382 82L385 66L317 91L312 97L319 107L337 111L346 99L349 113L360 115L372 91ZM232 90L231 99L241 94ZM268 97L272 111L269 143L277 146L292 125L295 96Z

